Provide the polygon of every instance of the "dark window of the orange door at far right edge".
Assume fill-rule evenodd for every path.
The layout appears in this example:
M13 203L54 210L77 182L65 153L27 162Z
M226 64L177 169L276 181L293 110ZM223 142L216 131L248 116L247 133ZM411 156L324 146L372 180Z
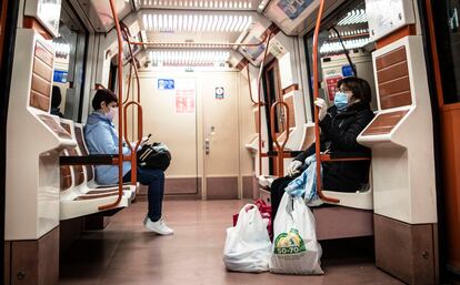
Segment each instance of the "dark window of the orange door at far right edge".
M434 1L433 18L443 102L460 102L460 0Z

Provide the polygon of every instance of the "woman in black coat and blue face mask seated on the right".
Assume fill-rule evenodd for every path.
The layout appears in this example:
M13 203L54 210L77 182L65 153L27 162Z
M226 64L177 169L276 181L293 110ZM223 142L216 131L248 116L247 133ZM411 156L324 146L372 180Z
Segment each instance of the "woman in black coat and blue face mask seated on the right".
M334 105L327 109L324 100L318 99L319 126L321 129L321 152L370 156L370 149L357 142L358 135L370 123L373 112L370 109L371 89L359 78L344 78L337 84L339 92ZM284 187L300 174L304 160L314 154L314 143L299 154L289 165L288 176L271 184L272 221ZM329 191L354 192L369 182L370 161L322 163L322 185ZM313 179L313 177L308 177Z

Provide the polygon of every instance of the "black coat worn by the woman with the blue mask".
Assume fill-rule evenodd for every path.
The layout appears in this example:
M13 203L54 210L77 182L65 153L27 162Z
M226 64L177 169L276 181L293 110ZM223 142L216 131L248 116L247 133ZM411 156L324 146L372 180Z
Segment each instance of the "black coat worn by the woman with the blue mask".
M342 112L336 106L320 121L321 151L347 156L370 156L371 150L357 142L358 135L373 118L369 103L357 102ZM314 143L294 160L304 162L314 153ZM322 185L324 190L354 192L369 182L370 161L323 162Z

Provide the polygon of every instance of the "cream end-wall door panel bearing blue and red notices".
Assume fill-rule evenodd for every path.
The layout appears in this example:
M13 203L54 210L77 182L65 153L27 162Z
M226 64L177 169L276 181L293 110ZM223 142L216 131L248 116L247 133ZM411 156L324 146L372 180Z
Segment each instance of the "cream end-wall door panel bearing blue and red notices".
M143 134L171 151L166 194L199 196L197 79L179 72L158 74L140 78Z

